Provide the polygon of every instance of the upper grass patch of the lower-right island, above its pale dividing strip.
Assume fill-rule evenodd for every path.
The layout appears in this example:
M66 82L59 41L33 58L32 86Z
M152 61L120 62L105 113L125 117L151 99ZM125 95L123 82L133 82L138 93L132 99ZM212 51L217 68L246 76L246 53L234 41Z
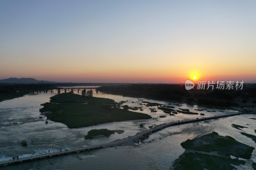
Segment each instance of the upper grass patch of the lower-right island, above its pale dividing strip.
M198 137L195 139L188 139L180 144L185 149L213 152L216 151L220 155L229 156L233 155L237 158L250 159L253 147L236 141L229 136L220 136L216 132Z

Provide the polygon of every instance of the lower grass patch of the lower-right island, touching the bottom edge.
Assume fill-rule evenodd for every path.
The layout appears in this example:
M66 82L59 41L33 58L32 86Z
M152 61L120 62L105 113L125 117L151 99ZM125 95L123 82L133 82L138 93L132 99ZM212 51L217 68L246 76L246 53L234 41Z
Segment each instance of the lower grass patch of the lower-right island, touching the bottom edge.
M188 152L183 153L179 159L176 159L173 167L175 170L234 169L234 166L231 166L230 164L244 165L245 161L215 155Z

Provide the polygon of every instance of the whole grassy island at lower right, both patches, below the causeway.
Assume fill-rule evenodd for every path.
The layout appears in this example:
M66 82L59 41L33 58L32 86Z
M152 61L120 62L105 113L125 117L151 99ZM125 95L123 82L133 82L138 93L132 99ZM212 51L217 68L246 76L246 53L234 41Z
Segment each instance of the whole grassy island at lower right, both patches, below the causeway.
M236 158L250 159L253 147L236 141L229 136L220 136L216 132L188 139L181 143L185 152L179 159L174 161L174 169L234 169L233 165L245 164L244 160L231 159L230 155Z

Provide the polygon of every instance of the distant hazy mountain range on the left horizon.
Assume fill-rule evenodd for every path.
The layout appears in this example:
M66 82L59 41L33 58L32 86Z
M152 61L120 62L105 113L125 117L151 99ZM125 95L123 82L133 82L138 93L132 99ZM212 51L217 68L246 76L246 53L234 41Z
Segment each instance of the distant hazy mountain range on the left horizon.
M57 82L36 80L35 78L7 78L7 79L0 80L0 83L30 84L30 83L57 83Z

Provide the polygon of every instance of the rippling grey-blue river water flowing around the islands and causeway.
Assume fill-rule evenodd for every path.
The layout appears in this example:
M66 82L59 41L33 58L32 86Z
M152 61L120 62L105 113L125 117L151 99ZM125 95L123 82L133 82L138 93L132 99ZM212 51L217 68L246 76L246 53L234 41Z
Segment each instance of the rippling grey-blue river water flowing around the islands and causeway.
M160 100L149 100L143 98L124 97L120 95L111 95L94 92L95 97L113 99L117 102L126 101L125 104L131 107L142 107L144 110L137 112L146 113L155 119L151 120L133 120L123 122L104 123L96 126L69 129L65 124L48 120L39 112L41 103L49 102L49 98L54 93L28 94L24 97L6 100L0 102L0 161L12 159L19 156L28 157L66 149L86 147L94 144L108 143L116 139L122 139L133 136L136 133L149 129L148 126L159 125L165 122L178 120L195 119L200 115L187 115L179 113L175 116L165 114L162 110L150 112L149 107L140 105L141 101L157 102L164 105L178 108L188 108L191 112L204 113L203 117L214 115L223 115L236 113L234 110L223 110L208 107L199 107L197 105L188 105L185 103L169 103ZM140 100L138 100L140 99ZM179 104L181 106L176 106ZM153 107L150 107L153 108ZM216 110L216 112L196 111L194 109ZM165 115L160 118L159 115ZM43 119L39 119L43 116ZM217 120L210 120L209 123L195 122L182 124L158 131L143 143L137 146L116 146L89 152L69 154L51 159L35 160L13 166L2 166L1 169L169 169L172 168L173 161L177 159L185 150L180 143L187 139L193 139L202 135L218 132L222 136L231 136L237 141L248 144L256 148L255 142L251 138L241 135L240 132L256 135L256 115L237 115ZM17 124L13 124L17 122ZM144 127L140 128L139 124ZM248 128L238 130L231 127L231 124L239 124ZM110 130L124 130L122 134L112 134L109 137L95 139L84 139L84 135L91 129L107 128ZM21 140L26 140L28 146L21 146ZM252 162L256 162L256 153L253 151L251 159L246 160L245 166L236 166L237 169L252 169Z

